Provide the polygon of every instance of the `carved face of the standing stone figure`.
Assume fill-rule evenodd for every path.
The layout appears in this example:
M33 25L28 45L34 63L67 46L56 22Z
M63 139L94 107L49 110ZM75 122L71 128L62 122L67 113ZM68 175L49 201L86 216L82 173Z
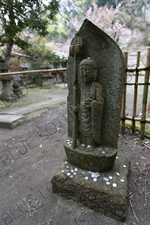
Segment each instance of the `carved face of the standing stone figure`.
M94 68L90 65L81 65L80 73L85 83L92 83L94 81Z

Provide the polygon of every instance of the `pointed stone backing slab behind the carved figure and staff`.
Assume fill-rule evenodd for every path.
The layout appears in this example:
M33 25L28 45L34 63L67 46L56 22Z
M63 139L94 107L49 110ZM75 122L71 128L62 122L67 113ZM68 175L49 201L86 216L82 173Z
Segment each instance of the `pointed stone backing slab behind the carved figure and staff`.
M74 76L78 76L78 99L80 105L80 91L82 76L79 64L90 57L97 65L97 82L103 87L104 105L101 125L101 145L117 147L120 122L121 97L124 81L124 57L117 44L97 26L85 20L77 32L82 39L82 47L74 56L69 55L67 65L68 80L68 137L73 136L73 87ZM74 68L76 66L76 68ZM78 121L78 127L80 122Z

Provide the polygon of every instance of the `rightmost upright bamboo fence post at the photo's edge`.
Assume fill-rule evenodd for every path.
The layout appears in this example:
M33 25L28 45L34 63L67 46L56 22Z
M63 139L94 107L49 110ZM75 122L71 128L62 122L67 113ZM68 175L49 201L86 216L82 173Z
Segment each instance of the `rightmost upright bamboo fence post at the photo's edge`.
M150 66L150 48L147 49L147 62L146 67ZM145 122L146 122L146 106L147 106L147 96L148 96L148 82L149 82L149 70L145 71L145 79L144 79L144 90L143 90L143 101L142 101L142 117L141 117L141 132L140 139L144 139L145 132Z

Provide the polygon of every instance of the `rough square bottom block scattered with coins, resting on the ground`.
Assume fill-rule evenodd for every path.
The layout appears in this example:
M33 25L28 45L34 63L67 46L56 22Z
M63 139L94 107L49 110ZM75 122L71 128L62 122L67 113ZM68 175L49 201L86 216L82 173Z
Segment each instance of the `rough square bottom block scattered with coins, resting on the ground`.
M121 153L113 168L104 173L79 169L64 161L51 178L52 191L123 221L128 203L129 170L130 161Z

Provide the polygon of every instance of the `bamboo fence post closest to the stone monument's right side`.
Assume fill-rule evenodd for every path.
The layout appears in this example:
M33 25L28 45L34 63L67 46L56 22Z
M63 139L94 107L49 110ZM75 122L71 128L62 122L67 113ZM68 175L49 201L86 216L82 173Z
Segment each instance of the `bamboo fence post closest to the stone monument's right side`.
M128 67L128 52L124 52L125 58L125 68ZM125 73L123 95L122 95L122 106L121 106L121 134L125 133L125 117L126 117L126 81L127 81L127 72Z

